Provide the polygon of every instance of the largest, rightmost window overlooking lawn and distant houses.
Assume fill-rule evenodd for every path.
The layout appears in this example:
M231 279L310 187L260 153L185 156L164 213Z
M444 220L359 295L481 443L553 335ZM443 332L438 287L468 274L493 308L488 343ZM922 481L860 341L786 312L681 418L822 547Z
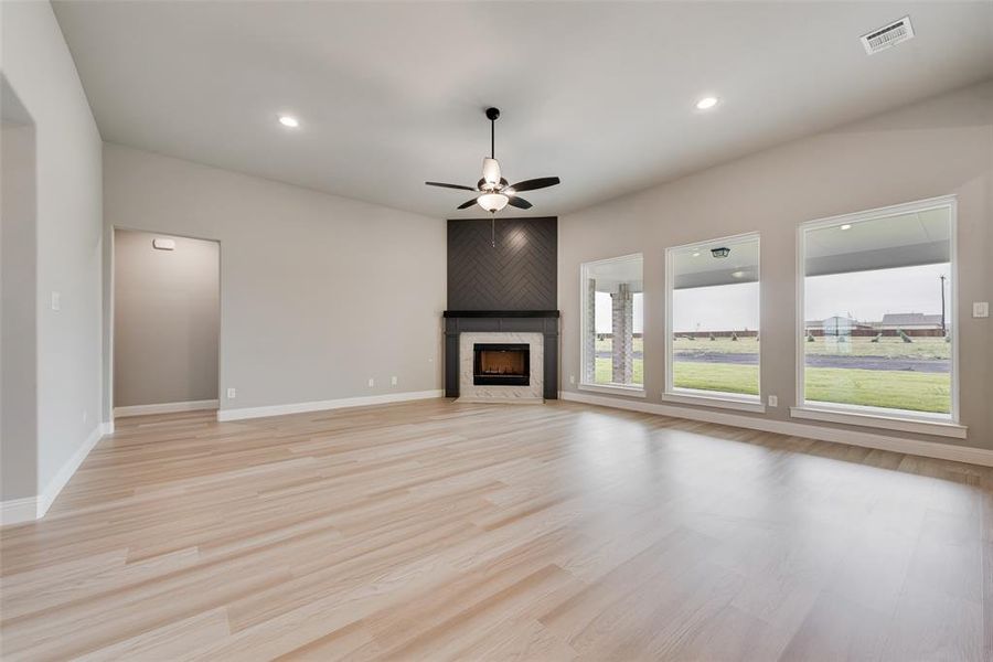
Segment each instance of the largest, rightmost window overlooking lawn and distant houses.
M953 197L800 227L798 403L955 418Z

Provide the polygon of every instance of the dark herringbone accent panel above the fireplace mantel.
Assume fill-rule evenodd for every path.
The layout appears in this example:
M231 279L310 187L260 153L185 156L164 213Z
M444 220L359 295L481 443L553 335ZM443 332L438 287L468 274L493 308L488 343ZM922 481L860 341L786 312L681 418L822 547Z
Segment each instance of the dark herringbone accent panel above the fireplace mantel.
M448 222L449 310L557 310L558 218Z

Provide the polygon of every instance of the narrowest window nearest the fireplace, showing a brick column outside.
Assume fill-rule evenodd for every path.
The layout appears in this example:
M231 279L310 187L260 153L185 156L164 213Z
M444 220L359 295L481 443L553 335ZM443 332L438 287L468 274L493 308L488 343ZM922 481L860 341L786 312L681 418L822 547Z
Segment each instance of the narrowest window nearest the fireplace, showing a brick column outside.
M580 388L644 394L644 296L641 255L586 263Z

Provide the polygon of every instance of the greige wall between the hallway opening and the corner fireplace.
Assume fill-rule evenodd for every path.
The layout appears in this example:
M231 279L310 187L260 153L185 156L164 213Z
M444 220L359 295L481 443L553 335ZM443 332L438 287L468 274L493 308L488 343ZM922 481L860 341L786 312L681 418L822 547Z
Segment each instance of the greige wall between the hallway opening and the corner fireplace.
M441 387L444 221L109 143L104 203L221 243L222 410Z

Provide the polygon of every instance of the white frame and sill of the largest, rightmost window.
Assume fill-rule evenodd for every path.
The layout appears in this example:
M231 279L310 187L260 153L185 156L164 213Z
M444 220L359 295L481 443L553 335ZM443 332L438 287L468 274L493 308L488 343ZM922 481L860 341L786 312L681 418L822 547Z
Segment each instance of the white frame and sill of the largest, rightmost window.
M805 332L804 312L807 307L807 233L812 229L831 227L842 223L864 223L887 216L897 216L915 212L947 209L949 212L949 271L951 284L947 301L948 319L951 323L951 406L948 414L914 412L909 409L891 409L869 405L850 405L845 403L828 403L807 399L807 352L801 339ZM901 431L937 434L949 437L965 438L965 427L959 424L959 320L958 320L958 197L941 195L916 200L901 204L876 207L851 214L841 214L825 218L805 221L797 227L797 319L794 325L796 348L796 403L790 408L793 418L808 418L828 423L845 423L866 427L896 429Z

